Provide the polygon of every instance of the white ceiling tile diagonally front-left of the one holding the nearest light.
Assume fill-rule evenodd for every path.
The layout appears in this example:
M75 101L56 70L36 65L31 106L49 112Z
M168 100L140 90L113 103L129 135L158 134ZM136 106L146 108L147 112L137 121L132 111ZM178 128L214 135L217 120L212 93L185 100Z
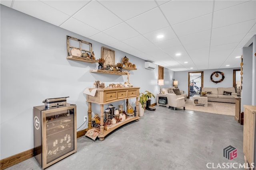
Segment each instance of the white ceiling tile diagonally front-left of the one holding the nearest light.
M130 27L127 23L124 22L114 27L111 27L110 29L107 29L103 32L112 37L116 37L116 39L120 41L140 35L137 31L135 31L132 27Z

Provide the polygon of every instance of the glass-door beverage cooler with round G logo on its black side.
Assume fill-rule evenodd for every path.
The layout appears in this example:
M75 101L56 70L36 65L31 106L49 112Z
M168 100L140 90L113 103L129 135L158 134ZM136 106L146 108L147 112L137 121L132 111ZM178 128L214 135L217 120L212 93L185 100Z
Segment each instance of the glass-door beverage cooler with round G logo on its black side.
M76 105L34 107L34 156L44 169L76 152Z

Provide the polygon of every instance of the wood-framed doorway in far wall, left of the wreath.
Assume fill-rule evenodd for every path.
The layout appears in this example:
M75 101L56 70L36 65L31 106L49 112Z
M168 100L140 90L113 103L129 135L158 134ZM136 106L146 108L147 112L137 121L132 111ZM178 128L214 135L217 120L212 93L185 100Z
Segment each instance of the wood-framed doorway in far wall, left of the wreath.
M188 98L199 95L204 86L204 72L194 71L188 72Z

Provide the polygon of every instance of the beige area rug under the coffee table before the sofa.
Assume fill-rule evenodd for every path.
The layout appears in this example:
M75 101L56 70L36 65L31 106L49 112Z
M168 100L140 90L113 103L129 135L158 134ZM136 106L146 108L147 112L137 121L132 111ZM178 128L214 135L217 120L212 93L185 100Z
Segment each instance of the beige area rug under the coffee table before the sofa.
M202 111L207 113L215 113L222 115L235 115L235 104L232 103L221 103L221 102L208 102L206 106L193 106L192 99L186 100L186 110Z

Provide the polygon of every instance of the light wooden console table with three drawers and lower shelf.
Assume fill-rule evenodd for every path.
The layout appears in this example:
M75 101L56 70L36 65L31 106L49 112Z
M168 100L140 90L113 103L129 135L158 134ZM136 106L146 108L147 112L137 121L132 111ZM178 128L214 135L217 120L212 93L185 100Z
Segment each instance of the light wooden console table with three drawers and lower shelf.
M140 96L139 87L130 87L130 88L102 88L97 89L95 96L87 95L88 106L88 129L92 129L92 103L100 105L100 134L98 137L100 141L104 140L104 137L110 132L114 131L118 127L125 125L131 121L140 119L138 113L138 97ZM128 106L128 99L136 98L136 116L129 117L123 122L118 122L112 127L104 131L104 104L110 102L116 102L120 100L126 100L126 107Z

